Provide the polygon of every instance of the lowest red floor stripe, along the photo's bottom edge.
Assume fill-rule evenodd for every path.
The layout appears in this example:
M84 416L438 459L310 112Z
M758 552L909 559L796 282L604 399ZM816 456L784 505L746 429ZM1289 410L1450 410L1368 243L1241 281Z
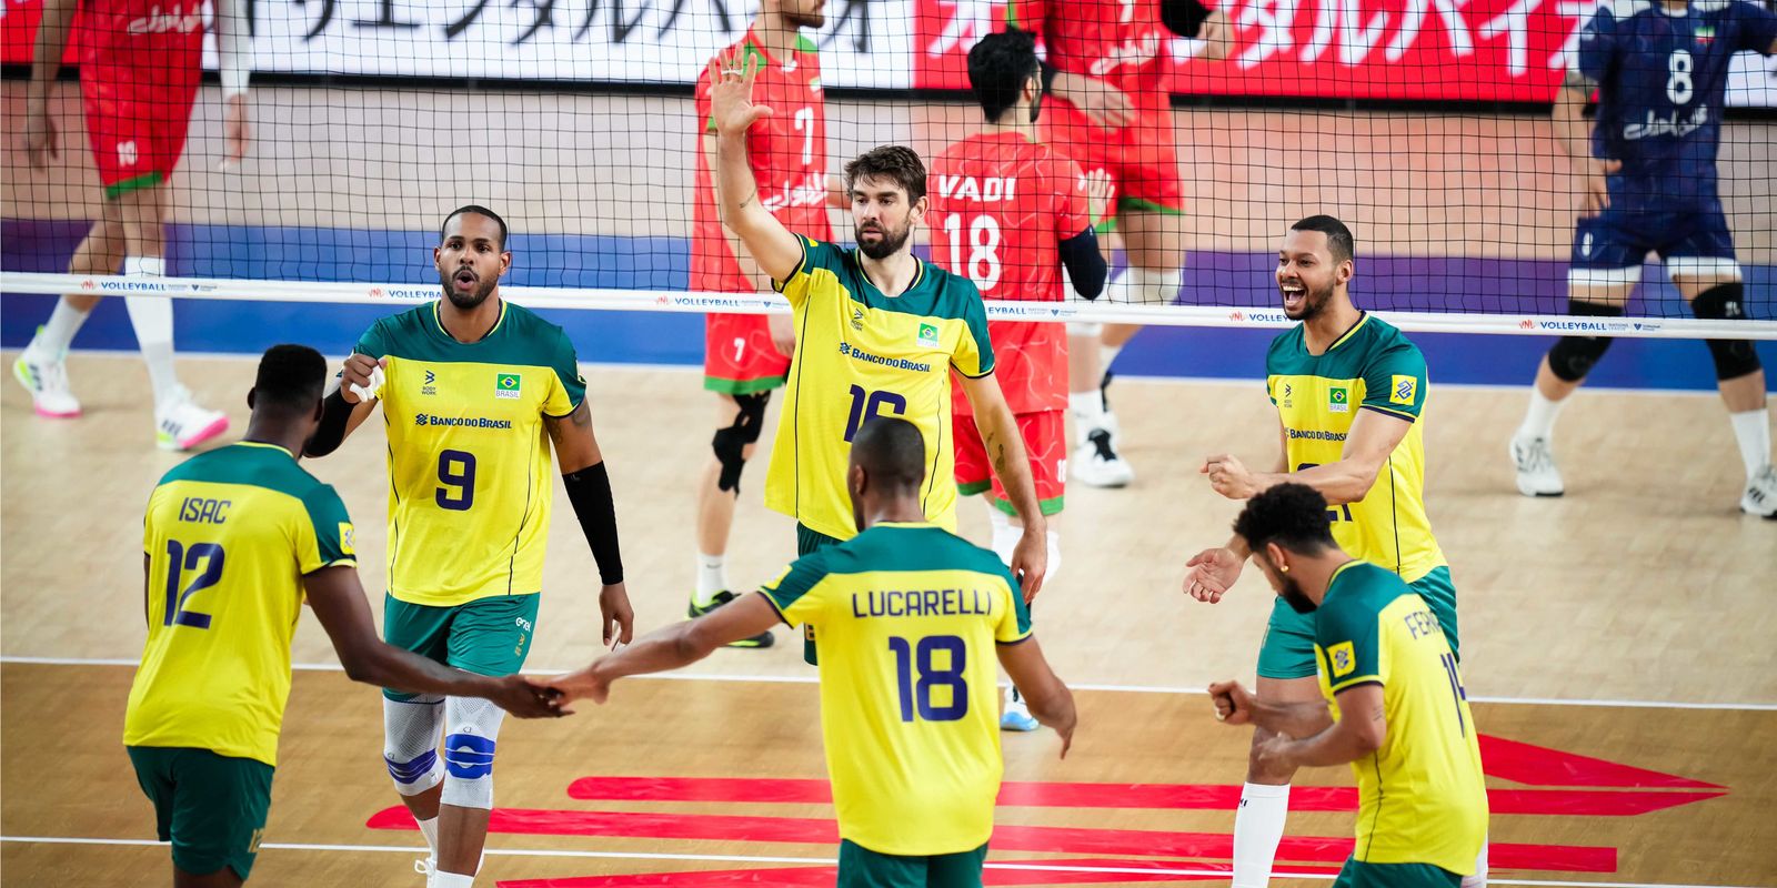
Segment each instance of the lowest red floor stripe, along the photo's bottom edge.
M1162 860L995 860L993 863L1040 863L1045 867L1096 867L1096 868L1148 868L1148 870L1217 870L1217 876L1175 876L1167 872L1057 872L1057 870L983 870L986 884L1095 884L1095 883L1162 883L1162 881L1208 881L1226 879L1226 863L1176 863ZM1292 868L1276 872L1274 877L1299 874L1333 876L1336 868ZM640 872L629 876L574 876L565 879L514 879L499 883L499 888L679 888L695 884L746 884L752 888L801 888L810 884L833 884L837 867L778 867L752 870L691 870L691 872Z

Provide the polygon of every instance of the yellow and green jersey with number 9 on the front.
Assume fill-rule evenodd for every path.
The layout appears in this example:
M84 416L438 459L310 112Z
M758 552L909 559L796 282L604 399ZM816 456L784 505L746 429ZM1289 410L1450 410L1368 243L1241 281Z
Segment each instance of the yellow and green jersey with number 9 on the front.
M586 396L567 334L501 302L476 343L439 323L437 302L382 318L357 353L387 359L389 595L448 607L542 591L549 538L549 433Z

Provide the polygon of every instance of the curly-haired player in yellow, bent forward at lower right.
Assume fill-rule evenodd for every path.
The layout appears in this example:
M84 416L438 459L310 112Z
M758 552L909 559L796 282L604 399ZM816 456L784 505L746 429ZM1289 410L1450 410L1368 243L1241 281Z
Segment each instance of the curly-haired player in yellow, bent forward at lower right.
M1217 682L1215 718L1255 725L1255 760L1276 771L1351 764L1358 844L1335 888L1486 884L1487 787L1455 639L1398 570L1345 554L1338 524L1299 483L1240 510L1235 538L1279 607L1308 620L1320 698Z

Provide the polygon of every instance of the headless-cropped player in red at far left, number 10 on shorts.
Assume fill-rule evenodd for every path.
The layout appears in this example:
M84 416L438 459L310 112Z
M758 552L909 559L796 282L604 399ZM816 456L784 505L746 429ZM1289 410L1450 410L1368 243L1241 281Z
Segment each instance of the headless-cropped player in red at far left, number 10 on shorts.
M247 153L247 76L251 43L238 0L213 0L213 30L222 66L227 162ZM76 36L80 94L87 140L105 188L101 217L75 250L69 274L160 277L165 274L167 179L172 178L192 103L203 78L203 0L44 0L32 50L25 103L25 153L34 169L60 156L50 85ZM66 353L92 295L62 297L50 320L12 364L39 416L80 416L68 385ZM190 449L227 430L227 417L192 401L172 366L172 302L124 297L155 387L155 433L163 449Z

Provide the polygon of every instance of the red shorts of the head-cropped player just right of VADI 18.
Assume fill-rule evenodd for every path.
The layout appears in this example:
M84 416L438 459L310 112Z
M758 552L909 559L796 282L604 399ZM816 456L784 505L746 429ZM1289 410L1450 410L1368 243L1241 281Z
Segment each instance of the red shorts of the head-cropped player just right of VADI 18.
M1178 176L1169 107L1141 108L1136 123L1121 130L1100 130L1073 105L1045 101L1038 128L1045 144L1079 163L1088 176L1098 170L1111 176L1112 215L1185 211L1185 183Z

